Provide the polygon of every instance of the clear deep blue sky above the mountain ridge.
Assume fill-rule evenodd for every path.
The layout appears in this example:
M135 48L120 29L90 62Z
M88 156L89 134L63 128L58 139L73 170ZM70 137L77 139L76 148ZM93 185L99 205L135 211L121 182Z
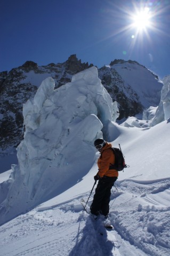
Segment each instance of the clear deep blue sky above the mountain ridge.
M139 30L132 17L144 7L150 25ZM163 78L170 75L169 21L169 0L1 0L0 71L76 54L98 68L135 60Z

